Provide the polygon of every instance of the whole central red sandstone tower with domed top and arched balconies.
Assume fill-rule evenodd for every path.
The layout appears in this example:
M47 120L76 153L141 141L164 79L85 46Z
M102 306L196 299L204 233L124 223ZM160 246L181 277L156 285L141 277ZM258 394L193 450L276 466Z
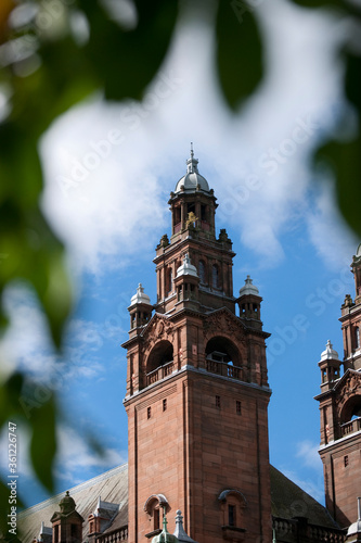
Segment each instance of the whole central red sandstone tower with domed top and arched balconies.
M261 298L249 277L233 296L235 254L225 230L216 237L216 198L197 163L191 151L170 193L157 302L140 285L129 307L129 543L159 533L163 507L169 520L181 509L198 543L270 543Z

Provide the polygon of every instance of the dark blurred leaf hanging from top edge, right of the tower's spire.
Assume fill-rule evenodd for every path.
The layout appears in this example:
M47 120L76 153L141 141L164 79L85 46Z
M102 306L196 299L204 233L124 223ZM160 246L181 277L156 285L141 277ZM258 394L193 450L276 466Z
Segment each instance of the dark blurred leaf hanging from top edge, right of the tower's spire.
M220 0L216 30L219 80L228 104L235 110L256 90L263 72L254 8L243 0Z

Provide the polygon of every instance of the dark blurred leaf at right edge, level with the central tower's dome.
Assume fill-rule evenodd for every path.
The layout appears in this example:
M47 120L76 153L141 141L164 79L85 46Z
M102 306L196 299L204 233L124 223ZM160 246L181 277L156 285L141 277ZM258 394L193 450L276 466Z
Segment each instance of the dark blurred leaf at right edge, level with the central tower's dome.
M351 142L332 141L317 153L317 161L326 161L336 177L337 200L349 226L361 238L361 137Z

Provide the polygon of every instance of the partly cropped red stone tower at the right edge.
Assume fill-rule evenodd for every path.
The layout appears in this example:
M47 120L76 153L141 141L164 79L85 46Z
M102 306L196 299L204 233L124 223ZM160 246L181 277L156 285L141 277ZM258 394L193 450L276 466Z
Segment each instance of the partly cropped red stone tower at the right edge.
M353 256L356 298L341 306L344 362L327 343L319 363L321 447L326 507L341 527L354 520L361 492L361 244ZM340 376L340 366L344 374Z

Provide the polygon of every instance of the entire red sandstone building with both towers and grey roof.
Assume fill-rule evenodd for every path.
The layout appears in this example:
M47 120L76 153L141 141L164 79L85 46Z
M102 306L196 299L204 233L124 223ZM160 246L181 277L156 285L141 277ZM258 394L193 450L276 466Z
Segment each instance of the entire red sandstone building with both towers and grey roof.
M22 541L361 541L361 245L357 295L341 308L344 362L328 342L319 363L326 510L269 464L262 300L249 276L233 294L232 242L216 235L217 200L193 151L169 206L157 299L139 285L128 308L128 465L22 513Z

